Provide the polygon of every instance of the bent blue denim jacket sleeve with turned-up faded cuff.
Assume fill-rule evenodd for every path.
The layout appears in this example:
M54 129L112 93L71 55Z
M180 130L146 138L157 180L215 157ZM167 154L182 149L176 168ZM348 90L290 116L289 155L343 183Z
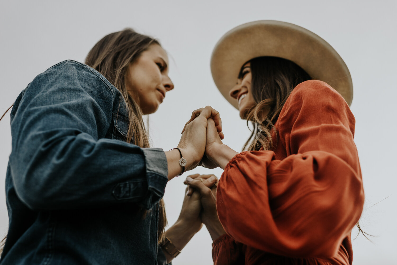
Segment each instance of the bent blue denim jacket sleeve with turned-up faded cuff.
M13 109L10 166L15 191L29 208L136 202L151 209L162 198L165 153L104 138L121 96L98 72L61 62L21 95Z

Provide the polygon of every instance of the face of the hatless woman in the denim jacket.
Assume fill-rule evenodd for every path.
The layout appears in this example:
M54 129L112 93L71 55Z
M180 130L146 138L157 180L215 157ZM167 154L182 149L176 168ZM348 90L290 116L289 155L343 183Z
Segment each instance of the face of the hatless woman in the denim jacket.
M173 89L168 77L168 56L160 45L150 45L136 62L128 66L125 87L143 114L156 112L166 92Z

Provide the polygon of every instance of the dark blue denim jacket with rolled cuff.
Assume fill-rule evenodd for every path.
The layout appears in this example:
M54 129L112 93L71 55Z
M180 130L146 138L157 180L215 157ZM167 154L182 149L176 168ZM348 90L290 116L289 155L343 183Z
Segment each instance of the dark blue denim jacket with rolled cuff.
M11 111L1 265L166 264L157 244L166 156L125 142L127 113L116 87L71 60L22 91Z

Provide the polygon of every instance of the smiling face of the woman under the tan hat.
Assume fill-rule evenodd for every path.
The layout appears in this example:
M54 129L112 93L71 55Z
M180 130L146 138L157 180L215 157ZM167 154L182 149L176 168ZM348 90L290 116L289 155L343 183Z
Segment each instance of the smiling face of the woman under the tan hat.
M239 104L242 119L247 118L249 110L256 105L251 92L251 79L251 63L248 62L241 67L237 83L229 92L229 95L236 99Z

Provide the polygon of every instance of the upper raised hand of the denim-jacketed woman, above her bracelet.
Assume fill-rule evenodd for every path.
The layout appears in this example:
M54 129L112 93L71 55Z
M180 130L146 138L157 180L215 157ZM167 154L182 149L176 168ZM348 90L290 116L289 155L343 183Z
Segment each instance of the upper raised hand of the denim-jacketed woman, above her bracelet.
M212 118L216 131L223 137L222 122L219 112L210 106L193 111L191 119L185 124L178 148L187 161L185 170L192 170L198 166L206 148L207 120Z

